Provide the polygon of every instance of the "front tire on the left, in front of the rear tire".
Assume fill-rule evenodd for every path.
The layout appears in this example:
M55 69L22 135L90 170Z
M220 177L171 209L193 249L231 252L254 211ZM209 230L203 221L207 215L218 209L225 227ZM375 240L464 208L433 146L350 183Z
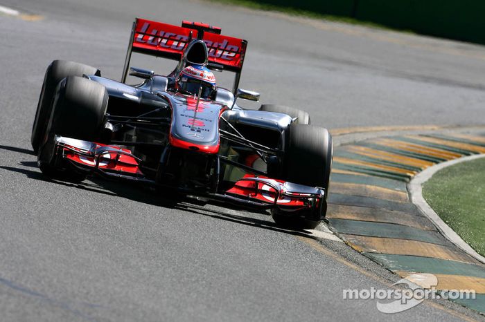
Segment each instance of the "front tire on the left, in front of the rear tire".
M105 86L87 78L69 76L58 85L47 125L47 140L39 149L38 163L46 176L73 180L85 178L76 171L56 167L55 135L93 141L102 133L108 93Z

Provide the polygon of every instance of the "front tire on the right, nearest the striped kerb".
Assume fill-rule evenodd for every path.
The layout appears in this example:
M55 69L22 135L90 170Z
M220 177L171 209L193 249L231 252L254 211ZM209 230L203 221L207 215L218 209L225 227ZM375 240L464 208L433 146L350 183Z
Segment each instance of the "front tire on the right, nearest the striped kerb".
M292 214L275 209L272 216L276 223L299 229L312 229L319 225L326 216L332 153L332 136L326 129L305 124L290 125L281 178L288 182L324 188L325 200L322 200L324 204L318 211L306 214Z

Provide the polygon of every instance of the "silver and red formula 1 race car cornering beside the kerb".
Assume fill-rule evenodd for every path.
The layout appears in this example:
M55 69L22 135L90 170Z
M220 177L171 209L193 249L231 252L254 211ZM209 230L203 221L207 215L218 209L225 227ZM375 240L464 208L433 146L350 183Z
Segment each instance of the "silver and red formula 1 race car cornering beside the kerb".
M236 104L259 99L238 88L246 48L247 41L204 23L136 19L121 82L97 68L53 61L32 131L39 168L58 180L98 173L146 182L157 191L268 209L286 227L316 227L326 215L332 138L310 126L305 111ZM156 75L130 67L132 53L178 64L167 76ZM233 89L213 87L203 95L202 80L189 84L195 92L177 86L188 66L234 73ZM127 85L128 74L141 84Z

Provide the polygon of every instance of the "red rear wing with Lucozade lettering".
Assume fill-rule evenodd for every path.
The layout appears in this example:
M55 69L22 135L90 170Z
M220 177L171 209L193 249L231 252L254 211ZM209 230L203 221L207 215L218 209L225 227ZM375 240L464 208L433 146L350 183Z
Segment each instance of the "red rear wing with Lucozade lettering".
M220 35L220 32L220 28L205 23L183 21L182 26L179 27L136 18L133 23L121 82L126 81L132 52L180 61L191 40L202 39L209 50L209 61L236 73L234 81L234 91L236 91L240 73L243 70L247 41Z

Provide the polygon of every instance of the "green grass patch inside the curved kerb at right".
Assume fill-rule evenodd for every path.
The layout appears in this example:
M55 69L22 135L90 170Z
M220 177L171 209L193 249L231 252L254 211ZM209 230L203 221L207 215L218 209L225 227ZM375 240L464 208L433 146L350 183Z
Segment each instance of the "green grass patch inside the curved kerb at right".
M451 229L485 256L485 158L436 172L423 185L423 197Z

